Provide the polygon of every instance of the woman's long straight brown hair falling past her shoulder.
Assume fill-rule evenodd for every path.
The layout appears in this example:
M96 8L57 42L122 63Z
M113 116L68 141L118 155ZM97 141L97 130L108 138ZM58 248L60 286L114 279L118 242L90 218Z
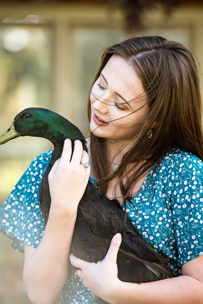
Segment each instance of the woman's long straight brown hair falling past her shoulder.
M90 136L91 163L99 190L105 194L108 182L118 177L116 186L120 184L126 202L132 196L134 184L168 148L189 150L203 160L202 109L196 64L190 51L182 44L152 36L132 38L110 46L101 57L93 84L113 54L120 55L134 67L149 104L149 114L136 138L136 144L124 154L117 171L109 172L105 139L93 133ZM89 121L90 117L89 96ZM147 134L154 124L153 136L148 138ZM130 136L132 139L136 134ZM138 167L137 164L141 162L142 167ZM129 163L134 165L126 172ZM123 184L126 176L127 182Z

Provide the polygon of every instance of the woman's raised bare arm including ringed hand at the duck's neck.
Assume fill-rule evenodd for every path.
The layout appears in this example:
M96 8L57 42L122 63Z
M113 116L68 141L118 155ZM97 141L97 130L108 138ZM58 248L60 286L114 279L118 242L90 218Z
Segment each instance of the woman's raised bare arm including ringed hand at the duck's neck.
M33 304L53 303L67 277L77 208L90 172L80 165L88 161L81 142L75 142L70 161L71 152L71 141L65 140L61 158L49 174L51 208L42 241L37 249L25 246L23 280Z

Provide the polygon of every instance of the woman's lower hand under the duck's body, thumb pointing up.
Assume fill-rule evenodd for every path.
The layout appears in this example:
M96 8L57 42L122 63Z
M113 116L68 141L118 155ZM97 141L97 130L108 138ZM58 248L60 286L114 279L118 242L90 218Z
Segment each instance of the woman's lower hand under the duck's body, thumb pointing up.
M121 244L121 234L114 235L106 257L97 263L89 263L70 255L70 261L73 266L79 268L76 275L79 276L84 286L86 286L92 294L110 301L119 283L117 254Z

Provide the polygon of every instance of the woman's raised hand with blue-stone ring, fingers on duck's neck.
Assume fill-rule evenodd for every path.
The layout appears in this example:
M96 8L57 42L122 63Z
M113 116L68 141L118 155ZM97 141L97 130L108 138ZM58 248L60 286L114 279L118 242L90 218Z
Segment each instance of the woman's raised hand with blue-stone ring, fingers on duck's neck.
M90 166L80 164L89 160L80 141L75 141L72 159L71 154L71 140L66 139L61 157L56 160L48 176L51 209L62 215L77 214L90 174Z

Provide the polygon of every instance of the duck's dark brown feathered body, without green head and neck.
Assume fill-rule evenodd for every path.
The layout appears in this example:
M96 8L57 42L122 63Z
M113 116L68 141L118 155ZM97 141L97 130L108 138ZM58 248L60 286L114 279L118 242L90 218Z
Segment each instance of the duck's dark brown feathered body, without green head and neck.
M47 178L54 154L40 189L40 204L46 222L50 208ZM117 232L122 235L117 258L118 278L121 281L141 283L173 277L167 261L152 249L129 219L124 222L119 202L108 199L89 181L78 207L71 252L89 262L102 260Z

